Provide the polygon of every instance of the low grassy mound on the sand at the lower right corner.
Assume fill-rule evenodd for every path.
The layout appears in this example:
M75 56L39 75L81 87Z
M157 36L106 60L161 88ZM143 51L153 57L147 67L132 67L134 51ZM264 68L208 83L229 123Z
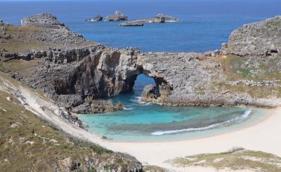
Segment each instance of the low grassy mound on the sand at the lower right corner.
M203 166L231 170L281 171L281 157L266 152L244 150L240 147L216 154L197 154L176 158L166 163L175 166Z

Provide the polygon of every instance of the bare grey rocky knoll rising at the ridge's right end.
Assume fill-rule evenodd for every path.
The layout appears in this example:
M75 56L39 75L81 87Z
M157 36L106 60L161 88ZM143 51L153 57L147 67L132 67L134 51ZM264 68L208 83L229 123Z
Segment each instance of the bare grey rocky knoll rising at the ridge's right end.
M223 54L270 55L281 51L281 16L254 22L230 34L228 44L223 44Z

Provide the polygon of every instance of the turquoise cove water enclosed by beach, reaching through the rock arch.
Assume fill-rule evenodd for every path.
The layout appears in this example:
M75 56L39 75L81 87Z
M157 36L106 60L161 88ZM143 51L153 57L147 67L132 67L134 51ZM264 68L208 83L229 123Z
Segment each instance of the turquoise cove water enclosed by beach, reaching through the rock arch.
M115 141L169 141L202 138L247 127L265 117L253 107L166 107L141 104L143 87L154 79L139 74L133 92L112 97L124 110L104 114L79 114L84 126Z

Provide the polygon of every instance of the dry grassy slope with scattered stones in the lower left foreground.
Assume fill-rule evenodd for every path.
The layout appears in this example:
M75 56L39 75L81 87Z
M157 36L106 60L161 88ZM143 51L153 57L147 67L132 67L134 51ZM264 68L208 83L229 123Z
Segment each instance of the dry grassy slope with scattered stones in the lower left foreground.
M4 73L0 77L18 84ZM136 163L129 155L66 135L0 89L1 171L127 171Z

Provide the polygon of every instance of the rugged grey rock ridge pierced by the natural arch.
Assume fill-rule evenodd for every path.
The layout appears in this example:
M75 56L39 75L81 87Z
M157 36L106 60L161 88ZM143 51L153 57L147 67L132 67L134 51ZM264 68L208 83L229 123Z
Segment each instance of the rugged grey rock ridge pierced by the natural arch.
M109 48L71 32L50 14L25 18L22 25L1 24L0 41L5 46L21 40L38 48L11 51L1 47L2 62L38 62L28 72L4 71L43 90L68 112L122 109L122 105L103 100L110 107L105 108L96 100L132 91L138 74L146 74L156 83L145 87L143 101L169 106L280 105L276 94L280 80L271 76L281 69L280 39L276 39L280 37L280 17L244 25L230 35L221 50L205 54ZM13 32L16 29L25 32ZM267 92L254 95L253 90ZM78 120L70 113L62 117L72 123Z

